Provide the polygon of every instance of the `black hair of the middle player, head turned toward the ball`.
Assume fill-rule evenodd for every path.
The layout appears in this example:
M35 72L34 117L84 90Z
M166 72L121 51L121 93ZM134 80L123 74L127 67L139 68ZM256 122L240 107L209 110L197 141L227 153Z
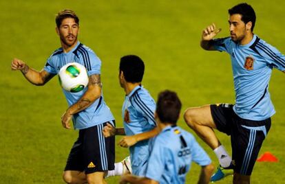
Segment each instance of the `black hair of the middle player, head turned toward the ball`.
M135 55L127 55L120 58L120 71L123 71L127 82L142 82L145 64Z

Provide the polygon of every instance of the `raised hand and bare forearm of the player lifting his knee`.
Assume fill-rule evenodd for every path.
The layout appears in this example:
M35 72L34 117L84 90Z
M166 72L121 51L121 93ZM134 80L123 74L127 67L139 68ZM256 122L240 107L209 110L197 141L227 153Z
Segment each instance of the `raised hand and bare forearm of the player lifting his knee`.
M206 27L206 29L202 31L200 46L205 50L215 50L213 45L211 44L211 41L220 31L221 29L216 29L214 23Z

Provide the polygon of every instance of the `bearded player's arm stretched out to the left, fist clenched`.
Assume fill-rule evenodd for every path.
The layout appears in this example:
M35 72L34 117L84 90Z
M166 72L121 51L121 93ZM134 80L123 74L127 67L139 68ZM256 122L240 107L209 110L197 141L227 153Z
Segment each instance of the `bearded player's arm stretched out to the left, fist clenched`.
M11 64L12 70L20 70L23 73L23 76L34 85L42 86L47 81L49 81L54 74L48 73L45 70L36 71L35 69L30 68L25 62L14 58Z

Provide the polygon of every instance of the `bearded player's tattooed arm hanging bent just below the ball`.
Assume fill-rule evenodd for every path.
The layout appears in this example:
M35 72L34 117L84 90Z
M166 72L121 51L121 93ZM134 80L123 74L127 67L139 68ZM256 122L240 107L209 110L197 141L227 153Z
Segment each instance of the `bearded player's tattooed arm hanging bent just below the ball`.
M70 119L72 115L83 111L90 106L95 100L101 96L101 78L99 74L89 76L88 89L75 104L67 108L63 116L61 117L61 123L64 128L70 129Z

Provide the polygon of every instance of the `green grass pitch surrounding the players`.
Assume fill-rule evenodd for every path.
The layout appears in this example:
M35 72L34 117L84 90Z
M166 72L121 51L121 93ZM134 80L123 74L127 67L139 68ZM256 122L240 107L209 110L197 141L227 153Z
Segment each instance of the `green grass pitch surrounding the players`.
M29 84L20 72L12 72L12 58L21 58L42 69L52 51L60 47L54 17L71 8L81 19L79 40L94 49L103 61L105 100L122 126L124 99L118 84L118 61L125 54L145 60L143 84L157 98L164 89L177 91L182 111L189 106L234 103L229 56L204 51L199 46L202 29L210 23L228 36L227 10L240 1L0 1L0 183L63 183L61 174L77 131L61 126L67 108L56 78L44 87ZM257 14L255 34L285 54L284 1L248 1ZM285 76L273 71L271 99L277 111L260 154L272 152L278 163L256 163L252 183L285 183ZM179 125L192 132L183 119ZM196 136L196 135L195 135ZM230 151L229 137L218 137ZM118 141L120 137L117 137ZM213 163L213 152L200 141ZM116 161L128 154L116 147ZM196 183L199 166L192 165L187 183ZM118 183L119 177L107 179ZM231 177L220 183L231 183Z

